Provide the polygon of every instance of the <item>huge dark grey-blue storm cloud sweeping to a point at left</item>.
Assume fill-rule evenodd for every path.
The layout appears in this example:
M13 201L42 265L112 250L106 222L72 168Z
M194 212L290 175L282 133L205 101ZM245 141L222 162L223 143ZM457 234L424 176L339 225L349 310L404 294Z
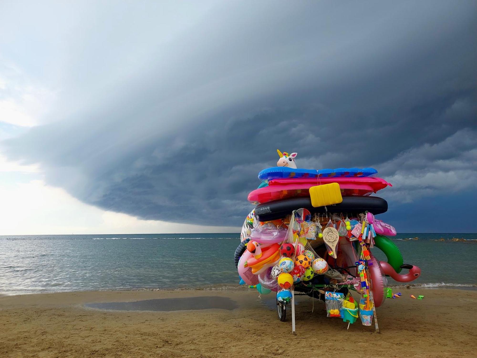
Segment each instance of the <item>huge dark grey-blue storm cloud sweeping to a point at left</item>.
M206 225L241 224L276 148L305 168L373 165L394 179L395 202L475 191L474 2L209 5L165 42L134 44L147 54L137 67L111 68L82 43L59 121L5 153L87 203ZM106 58L129 45L108 42Z

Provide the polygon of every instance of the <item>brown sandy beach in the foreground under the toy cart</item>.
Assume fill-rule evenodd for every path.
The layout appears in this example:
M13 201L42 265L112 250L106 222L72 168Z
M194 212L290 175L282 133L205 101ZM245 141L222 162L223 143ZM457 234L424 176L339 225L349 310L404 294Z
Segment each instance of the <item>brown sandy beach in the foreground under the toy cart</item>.
M346 331L340 319L326 317L324 304L299 297L297 336L291 334L290 317L278 320L273 295L259 299L252 290L3 296L0 357L317 357L331 352L335 357L475 357L477 291L401 291L401 299L378 308L381 334L360 322ZM414 300L411 294L425 298ZM170 298L179 304L211 296L231 306L168 312L84 306ZM157 308L162 301L148 302L158 302Z

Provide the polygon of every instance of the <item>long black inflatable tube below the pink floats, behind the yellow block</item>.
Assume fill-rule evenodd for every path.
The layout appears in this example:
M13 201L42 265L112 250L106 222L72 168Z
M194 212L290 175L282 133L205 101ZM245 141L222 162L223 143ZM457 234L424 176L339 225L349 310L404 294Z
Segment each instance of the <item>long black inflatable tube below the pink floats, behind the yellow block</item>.
M375 215L382 214L388 209L387 201L377 196L344 196L339 204L314 208L310 198L290 198L259 204L255 208L255 215L259 221L270 221L284 218L291 211L305 208L311 213L342 212L350 215L369 211Z

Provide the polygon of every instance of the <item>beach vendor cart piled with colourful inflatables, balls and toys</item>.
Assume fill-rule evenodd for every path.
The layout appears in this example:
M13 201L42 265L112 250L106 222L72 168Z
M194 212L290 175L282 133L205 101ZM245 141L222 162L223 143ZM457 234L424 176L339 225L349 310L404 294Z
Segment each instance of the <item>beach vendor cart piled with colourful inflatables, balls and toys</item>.
M291 308L293 331L295 295L324 301L326 315L348 327L358 317L371 326L374 317L378 329L375 308L386 299L386 275L402 282L420 275L388 238L394 227L375 217L388 204L373 194L391 184L373 168L299 169L297 153L277 151L277 167L262 170L259 188L249 193L256 207L235 252L240 282L261 294L276 292L278 316L285 321ZM373 256L375 248L387 262Z

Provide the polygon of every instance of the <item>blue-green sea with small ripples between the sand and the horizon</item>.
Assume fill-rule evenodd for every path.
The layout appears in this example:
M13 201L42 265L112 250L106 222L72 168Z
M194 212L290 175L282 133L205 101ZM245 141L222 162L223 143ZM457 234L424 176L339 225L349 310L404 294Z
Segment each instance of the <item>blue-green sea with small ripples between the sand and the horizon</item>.
M433 241L455 237L468 241ZM413 284L477 286L477 234L404 233L393 241L404 263L422 270ZM0 293L236 286L239 242L237 233L0 236Z

